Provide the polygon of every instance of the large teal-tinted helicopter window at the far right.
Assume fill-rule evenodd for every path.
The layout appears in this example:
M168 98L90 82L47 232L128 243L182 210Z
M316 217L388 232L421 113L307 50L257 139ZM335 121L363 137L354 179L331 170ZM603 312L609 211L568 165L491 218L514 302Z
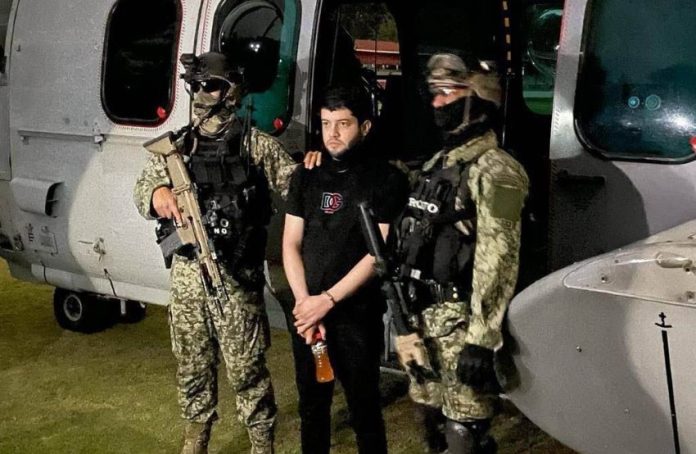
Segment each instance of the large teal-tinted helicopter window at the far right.
M592 2L575 97L576 131L589 150L610 159L694 156L693 6L689 0L637 0L630 8L621 0Z

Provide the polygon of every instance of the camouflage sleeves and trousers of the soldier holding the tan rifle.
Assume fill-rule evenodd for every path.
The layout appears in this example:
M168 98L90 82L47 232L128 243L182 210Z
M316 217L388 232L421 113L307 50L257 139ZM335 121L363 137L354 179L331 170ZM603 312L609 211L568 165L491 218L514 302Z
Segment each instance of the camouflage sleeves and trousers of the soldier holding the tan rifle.
M285 197L295 162L273 137L256 129L250 136L253 163L263 167L271 189ZM170 186L165 162L152 155L134 190L135 204L146 219L155 217L152 194L162 186ZM247 427L252 453L270 453L276 404L265 360L270 339L263 294L242 288L224 268L221 271L229 295L222 318L205 294L196 261L175 256L172 265L169 325L182 417L203 424L217 418L219 350L237 394L237 416Z

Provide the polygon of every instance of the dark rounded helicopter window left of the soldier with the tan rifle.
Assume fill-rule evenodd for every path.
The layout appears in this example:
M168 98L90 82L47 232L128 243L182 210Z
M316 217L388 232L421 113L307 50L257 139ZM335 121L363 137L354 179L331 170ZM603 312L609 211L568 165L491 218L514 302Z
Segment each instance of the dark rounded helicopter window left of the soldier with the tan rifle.
M156 125L174 102L177 0L119 0L107 25L102 104L116 123Z

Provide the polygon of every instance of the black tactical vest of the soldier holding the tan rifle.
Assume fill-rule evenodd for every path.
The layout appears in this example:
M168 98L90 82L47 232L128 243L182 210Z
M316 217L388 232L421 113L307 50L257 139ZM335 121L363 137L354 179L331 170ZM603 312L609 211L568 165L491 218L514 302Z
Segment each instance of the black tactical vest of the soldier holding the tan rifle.
M241 137L201 138L188 167L219 263L241 284L259 287L272 205L263 170L241 152Z

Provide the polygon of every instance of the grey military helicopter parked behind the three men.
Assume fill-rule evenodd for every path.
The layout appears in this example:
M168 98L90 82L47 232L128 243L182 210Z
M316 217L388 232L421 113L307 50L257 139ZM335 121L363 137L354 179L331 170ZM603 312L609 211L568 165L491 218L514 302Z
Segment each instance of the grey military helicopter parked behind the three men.
M99 329L114 305L137 320L142 303L167 303L168 271L131 193L142 144L190 119L182 54L235 55L244 111L298 156L320 143L318 94L358 73L377 148L410 163L439 147L429 56L493 56L500 141L531 181L508 313L521 384L508 397L580 452L691 452L696 12L685 0L627 6L2 0L0 256L14 277L56 287L66 329ZM376 8L388 20L366 15ZM356 38L374 44L373 61L356 57ZM284 326L275 218L266 298Z

